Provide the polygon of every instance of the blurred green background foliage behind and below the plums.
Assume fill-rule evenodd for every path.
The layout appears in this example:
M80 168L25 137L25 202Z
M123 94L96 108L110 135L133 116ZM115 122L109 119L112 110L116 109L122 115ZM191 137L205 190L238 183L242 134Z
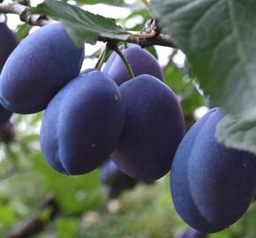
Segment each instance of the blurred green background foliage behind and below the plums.
M150 19L140 1L77 0L71 3L84 9L87 9L85 4L128 8L130 14L117 22L127 26L132 21L130 30L141 30ZM30 28L19 23L15 33L22 40ZM165 83L180 98L188 129L200 112L207 109L205 99L189 77L184 61L177 60L183 57L181 52L169 50L167 60L162 61L161 53L166 49L147 48L162 64ZM91 52L85 62L95 61L101 46ZM33 237L61 238L168 238L187 228L172 205L169 175L153 184L139 183L116 199L109 199L100 169L88 175L67 176L47 165L39 145L41 113L13 115L11 123L14 138L0 144L0 237L30 237L22 234L29 226L35 227ZM236 225L210 237L256 237L255 216L256 206L252 205Z

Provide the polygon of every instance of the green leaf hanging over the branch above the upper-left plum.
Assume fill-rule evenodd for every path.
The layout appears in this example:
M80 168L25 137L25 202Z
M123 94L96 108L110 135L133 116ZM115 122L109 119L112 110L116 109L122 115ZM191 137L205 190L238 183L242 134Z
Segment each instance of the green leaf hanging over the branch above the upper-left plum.
M46 0L33 9L34 13L60 20L77 46L84 42L94 44L99 36L125 41L130 33L117 26L113 19L106 19L83 11L79 7L64 2Z

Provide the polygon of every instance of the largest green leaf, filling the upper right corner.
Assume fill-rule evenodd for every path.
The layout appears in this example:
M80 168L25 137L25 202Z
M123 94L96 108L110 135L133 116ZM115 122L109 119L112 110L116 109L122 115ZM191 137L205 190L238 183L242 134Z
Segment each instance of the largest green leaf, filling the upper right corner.
M151 8L213 103L234 115L255 115L256 2L153 0Z

